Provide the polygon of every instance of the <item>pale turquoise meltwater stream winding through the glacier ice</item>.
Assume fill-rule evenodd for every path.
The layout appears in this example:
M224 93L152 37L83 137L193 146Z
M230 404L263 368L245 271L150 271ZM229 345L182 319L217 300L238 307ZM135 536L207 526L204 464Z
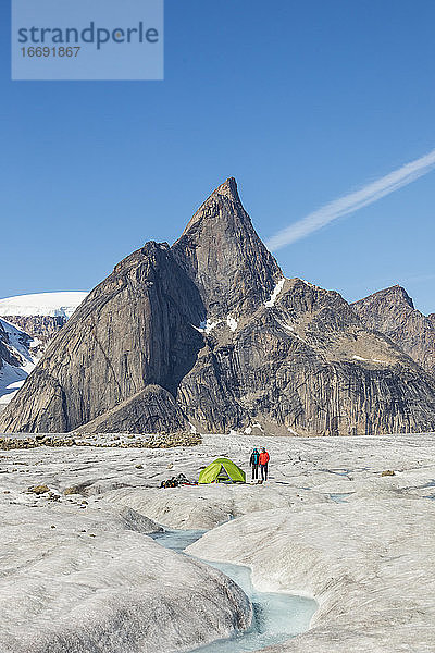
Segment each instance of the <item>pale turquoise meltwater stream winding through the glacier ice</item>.
M202 530L169 530L151 537L177 553L203 535ZM253 606L252 625L231 639L219 640L191 653L248 653L282 643L309 629L318 608L312 599L285 593L258 592L251 582L251 570L229 563L203 563L220 569L236 582Z

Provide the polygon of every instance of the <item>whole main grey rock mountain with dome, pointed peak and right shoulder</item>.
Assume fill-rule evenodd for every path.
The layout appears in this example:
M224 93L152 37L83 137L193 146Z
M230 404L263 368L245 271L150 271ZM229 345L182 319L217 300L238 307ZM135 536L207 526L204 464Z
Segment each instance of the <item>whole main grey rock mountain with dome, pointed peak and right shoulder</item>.
M410 307L410 310L412 308ZM338 295L285 280L234 180L170 248L97 286L0 417L2 431L435 429L435 381Z

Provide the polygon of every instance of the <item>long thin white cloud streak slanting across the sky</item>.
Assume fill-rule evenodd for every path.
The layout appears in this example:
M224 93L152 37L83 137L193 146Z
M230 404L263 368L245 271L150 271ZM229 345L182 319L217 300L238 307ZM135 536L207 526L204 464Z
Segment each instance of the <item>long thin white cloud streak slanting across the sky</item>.
M362 207L366 207L382 197L407 186L424 174L427 174L434 167L435 149L424 157L402 165L398 170L390 172L377 181L366 184L360 190L348 193L321 207L316 211L309 213L301 220L294 222L287 226L287 229L284 229L272 236L266 245L272 251L276 251L286 245L291 245L291 243L304 238L312 232L337 220L337 218L353 213L355 211L358 211L358 209L362 209Z

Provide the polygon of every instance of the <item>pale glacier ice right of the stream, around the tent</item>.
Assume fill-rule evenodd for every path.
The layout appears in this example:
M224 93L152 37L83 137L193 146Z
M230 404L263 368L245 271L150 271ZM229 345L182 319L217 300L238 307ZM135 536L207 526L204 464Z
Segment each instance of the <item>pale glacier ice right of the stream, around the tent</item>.
M179 528L210 528L226 514L192 554L251 566L259 590L318 597L312 630L274 653L433 653L435 505L425 497L435 436L207 436L173 465L189 475L195 461L225 454L247 470L250 447L263 444L265 485L125 489L108 498ZM396 476L381 477L386 468Z

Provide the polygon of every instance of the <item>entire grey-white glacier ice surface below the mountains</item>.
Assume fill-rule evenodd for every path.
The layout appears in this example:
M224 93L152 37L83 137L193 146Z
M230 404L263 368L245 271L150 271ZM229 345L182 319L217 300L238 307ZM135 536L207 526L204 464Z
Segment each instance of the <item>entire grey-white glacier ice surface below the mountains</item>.
M198 477L221 455L249 472L253 446L271 454L263 485L158 489L179 472ZM395 476L382 477L385 469ZM139 514L212 528L191 553L250 567L256 591L319 600L312 628L268 653L434 653L434 481L435 434L204 435L176 449L1 452L0 651L146 653L151 621L149 650L170 653L234 630L240 604L220 577L157 553L135 530ZM58 502L26 493L41 483L58 494L84 488ZM332 501L338 494L345 502ZM208 588L200 595L198 579Z

